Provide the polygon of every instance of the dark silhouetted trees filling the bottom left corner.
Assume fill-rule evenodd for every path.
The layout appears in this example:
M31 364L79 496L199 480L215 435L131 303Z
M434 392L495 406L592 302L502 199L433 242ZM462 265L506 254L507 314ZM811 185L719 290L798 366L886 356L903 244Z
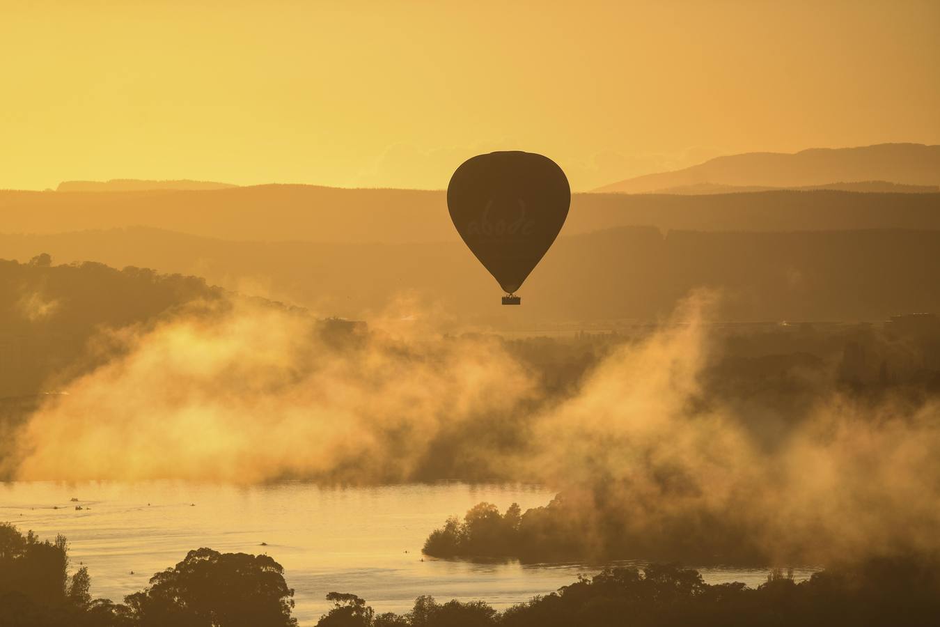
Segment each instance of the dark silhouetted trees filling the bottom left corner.
M65 538L40 542L0 524L2 627L290 627L293 590L269 556L190 551L126 604L92 601L86 568L67 581Z

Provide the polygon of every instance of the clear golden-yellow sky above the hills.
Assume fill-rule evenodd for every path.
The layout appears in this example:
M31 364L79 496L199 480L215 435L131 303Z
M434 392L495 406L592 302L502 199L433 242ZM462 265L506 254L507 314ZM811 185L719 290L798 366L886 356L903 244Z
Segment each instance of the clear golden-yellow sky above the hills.
M940 143L940 2L0 0L0 188L575 190L717 154Z

